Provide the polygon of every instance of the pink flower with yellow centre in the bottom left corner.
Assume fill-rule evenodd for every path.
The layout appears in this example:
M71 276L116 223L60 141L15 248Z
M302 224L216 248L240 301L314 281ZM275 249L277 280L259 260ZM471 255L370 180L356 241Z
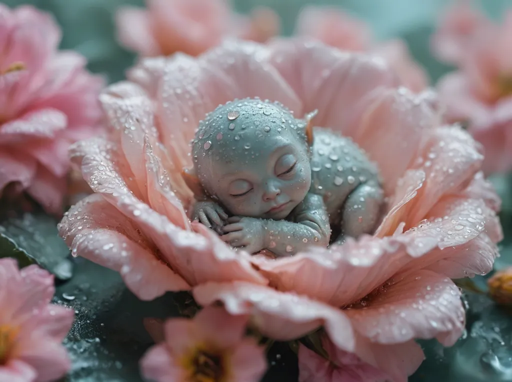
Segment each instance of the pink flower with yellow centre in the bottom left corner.
M53 276L36 265L18 270L0 259L0 380L46 382L65 375L71 364L61 342L73 324L73 310L52 305Z

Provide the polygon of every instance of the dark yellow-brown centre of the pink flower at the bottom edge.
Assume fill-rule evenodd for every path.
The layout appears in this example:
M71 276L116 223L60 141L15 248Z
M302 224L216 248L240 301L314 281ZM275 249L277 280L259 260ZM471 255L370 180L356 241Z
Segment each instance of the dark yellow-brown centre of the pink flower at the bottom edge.
M227 369L224 354L196 348L183 359L187 382L224 382Z

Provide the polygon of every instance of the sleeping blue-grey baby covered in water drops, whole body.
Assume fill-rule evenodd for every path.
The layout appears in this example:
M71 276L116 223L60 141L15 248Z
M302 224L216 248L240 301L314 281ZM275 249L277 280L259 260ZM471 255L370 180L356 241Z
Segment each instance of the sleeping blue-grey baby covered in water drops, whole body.
M192 142L191 174L204 191L193 219L233 247L277 256L327 247L331 225L337 243L371 233L383 204L377 168L350 139L307 127L260 99L209 113Z

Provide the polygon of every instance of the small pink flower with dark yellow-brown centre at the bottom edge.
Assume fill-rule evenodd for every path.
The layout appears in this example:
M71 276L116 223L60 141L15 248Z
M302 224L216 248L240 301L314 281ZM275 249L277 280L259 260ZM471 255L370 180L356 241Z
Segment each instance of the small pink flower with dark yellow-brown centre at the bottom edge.
M156 382L258 382L266 360L264 349L244 338L248 319L209 306L193 320L168 320L165 342L153 346L141 360L142 375Z

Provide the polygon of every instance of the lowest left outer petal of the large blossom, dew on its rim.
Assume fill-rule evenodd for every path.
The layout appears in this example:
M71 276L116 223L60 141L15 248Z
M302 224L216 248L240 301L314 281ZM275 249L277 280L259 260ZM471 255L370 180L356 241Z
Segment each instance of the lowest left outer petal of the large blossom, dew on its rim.
M126 286L141 300L189 289L158 259L158 250L138 234L136 225L99 195L73 206L62 219L59 233L73 253L120 272Z

